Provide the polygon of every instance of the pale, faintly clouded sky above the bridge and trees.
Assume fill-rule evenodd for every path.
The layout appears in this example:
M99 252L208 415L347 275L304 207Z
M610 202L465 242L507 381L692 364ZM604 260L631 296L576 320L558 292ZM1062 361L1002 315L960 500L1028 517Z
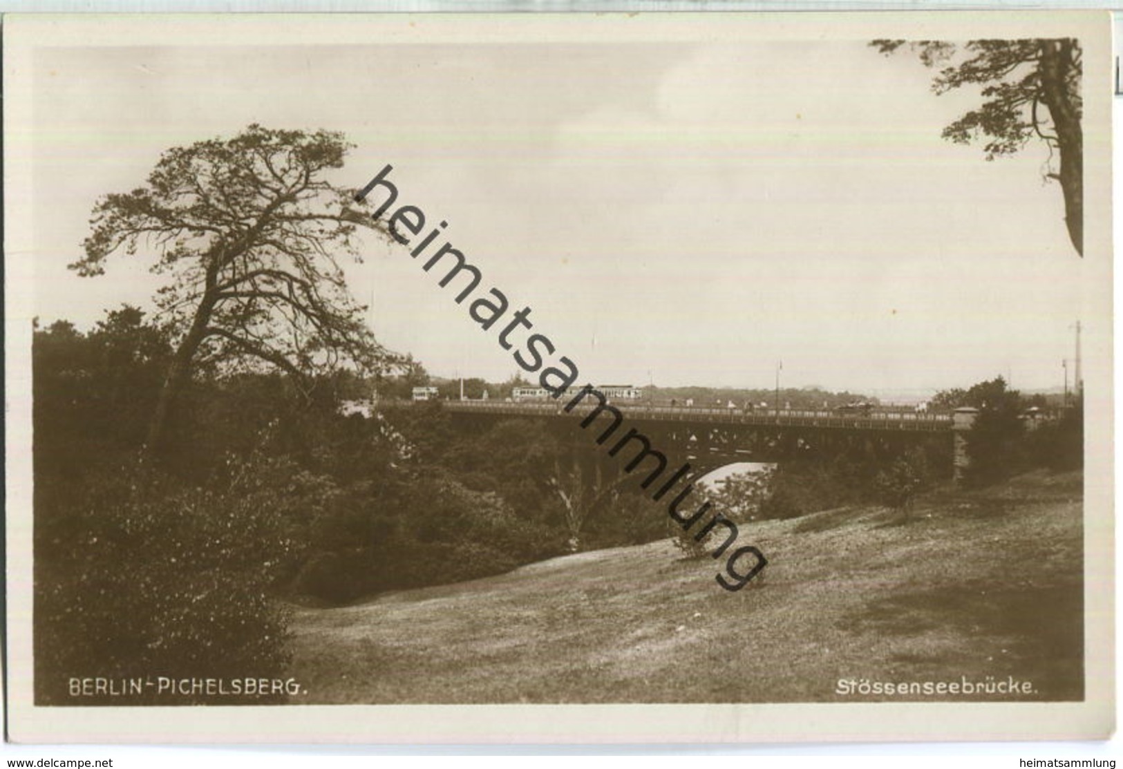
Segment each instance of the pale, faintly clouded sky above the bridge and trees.
M344 131L343 186L391 164L399 204L448 221L582 382L772 387L782 360L785 387L1060 387L1074 322L1110 322L1043 146L988 163L941 139L977 93L862 39L58 46L34 67L40 322L149 305L143 254L66 269L92 207L252 122ZM404 246L363 250L348 282L385 346L517 370Z

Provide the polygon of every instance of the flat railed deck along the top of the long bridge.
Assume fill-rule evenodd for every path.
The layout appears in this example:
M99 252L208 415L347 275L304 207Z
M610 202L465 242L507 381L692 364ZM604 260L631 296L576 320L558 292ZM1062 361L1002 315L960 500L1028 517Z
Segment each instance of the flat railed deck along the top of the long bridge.
M566 416L587 413L585 402L573 412L563 403L501 403L497 401L441 401L454 413L493 414L495 416ZM394 405L413 405L410 401ZM832 411L782 409L742 411L704 406L654 406L640 403L612 403L626 419L656 422L710 422L715 424L773 424L780 427L841 428L849 430L907 430L943 432L951 430L951 414L874 411L868 414L839 414Z

